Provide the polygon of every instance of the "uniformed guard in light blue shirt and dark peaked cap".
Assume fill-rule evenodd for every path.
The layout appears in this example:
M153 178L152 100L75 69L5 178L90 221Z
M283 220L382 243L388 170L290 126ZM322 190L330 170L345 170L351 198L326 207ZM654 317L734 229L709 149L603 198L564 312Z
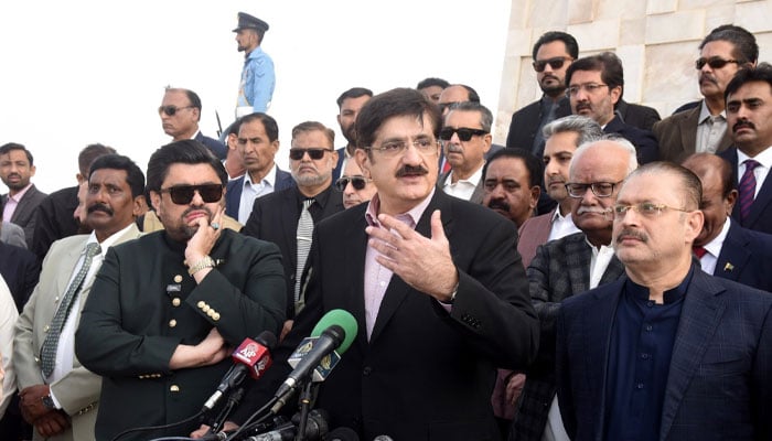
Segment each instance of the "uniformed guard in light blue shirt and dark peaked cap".
M236 32L238 51L246 54L246 60L238 85L237 118L255 111L265 112L274 95L274 61L260 49L266 31L268 23L265 21L248 13L238 13L238 26L233 32Z

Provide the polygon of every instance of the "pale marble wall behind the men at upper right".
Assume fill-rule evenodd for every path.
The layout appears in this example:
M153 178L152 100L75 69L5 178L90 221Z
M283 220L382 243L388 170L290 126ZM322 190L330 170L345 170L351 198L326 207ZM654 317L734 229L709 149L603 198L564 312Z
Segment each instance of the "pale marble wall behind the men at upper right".
M512 0L494 142L504 143L512 114L538 99L534 43L565 31L580 56L614 51L624 64L624 98L664 117L700 97L694 61L714 28L735 23L757 36L759 61L772 62L772 0Z

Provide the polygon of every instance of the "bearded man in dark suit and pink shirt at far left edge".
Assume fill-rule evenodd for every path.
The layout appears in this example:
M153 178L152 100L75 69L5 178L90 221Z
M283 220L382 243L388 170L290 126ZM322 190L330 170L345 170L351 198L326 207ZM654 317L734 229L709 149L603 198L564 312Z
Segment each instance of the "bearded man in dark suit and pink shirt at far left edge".
M2 195L2 219L24 228L28 249L35 233L35 208L47 196L30 182L34 175L32 153L24 146L9 142L0 147L0 180L8 186Z

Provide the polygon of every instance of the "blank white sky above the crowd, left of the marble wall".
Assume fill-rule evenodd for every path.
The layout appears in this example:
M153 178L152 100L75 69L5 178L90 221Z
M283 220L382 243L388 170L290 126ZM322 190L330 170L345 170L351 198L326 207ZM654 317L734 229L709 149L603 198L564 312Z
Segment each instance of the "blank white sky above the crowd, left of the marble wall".
M428 76L474 87L496 114L510 0L297 0L111 2L4 1L0 6L0 144L35 157L45 192L75 184L77 153L101 142L144 169L170 138L157 109L167 85L195 90L201 129L215 110L233 120L243 54L236 13L270 24L262 47L277 86L268 112L279 122L286 169L291 128L319 120L336 130L345 89L376 94ZM0 192L7 192L0 183Z

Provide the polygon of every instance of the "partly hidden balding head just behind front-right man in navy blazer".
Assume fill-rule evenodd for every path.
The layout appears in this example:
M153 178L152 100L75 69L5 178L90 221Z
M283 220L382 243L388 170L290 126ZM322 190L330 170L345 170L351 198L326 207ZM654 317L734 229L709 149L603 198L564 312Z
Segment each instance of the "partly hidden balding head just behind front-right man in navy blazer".
M695 246L705 246L721 233L737 202L732 166L712 153L693 154L682 165L696 174L703 184L699 208L705 215L705 223Z

